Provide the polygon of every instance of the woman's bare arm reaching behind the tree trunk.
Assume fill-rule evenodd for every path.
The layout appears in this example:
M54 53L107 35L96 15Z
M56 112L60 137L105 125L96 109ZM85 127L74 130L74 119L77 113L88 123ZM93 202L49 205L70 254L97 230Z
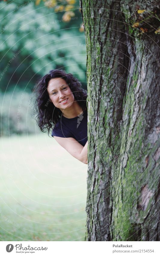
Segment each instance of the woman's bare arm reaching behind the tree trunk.
M88 156L87 156L87 146L88 141L83 147L78 141L74 138L61 138L54 136L55 140L65 148L72 156L77 158L80 162L88 164Z

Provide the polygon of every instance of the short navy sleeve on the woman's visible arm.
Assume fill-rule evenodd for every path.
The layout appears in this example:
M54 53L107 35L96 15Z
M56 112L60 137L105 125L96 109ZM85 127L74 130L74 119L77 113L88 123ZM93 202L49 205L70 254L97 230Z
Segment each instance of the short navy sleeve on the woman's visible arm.
M53 128L51 136L56 136L56 137L62 137L62 138L69 138L73 137L73 134L65 125L61 125L59 122L55 125Z

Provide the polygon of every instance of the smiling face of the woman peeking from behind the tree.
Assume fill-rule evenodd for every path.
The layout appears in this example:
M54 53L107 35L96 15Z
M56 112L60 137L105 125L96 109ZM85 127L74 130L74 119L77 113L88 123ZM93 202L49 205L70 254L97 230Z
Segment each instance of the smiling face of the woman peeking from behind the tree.
M48 95L54 106L61 111L70 107L74 102L74 95L66 81L60 77L52 78L47 87Z

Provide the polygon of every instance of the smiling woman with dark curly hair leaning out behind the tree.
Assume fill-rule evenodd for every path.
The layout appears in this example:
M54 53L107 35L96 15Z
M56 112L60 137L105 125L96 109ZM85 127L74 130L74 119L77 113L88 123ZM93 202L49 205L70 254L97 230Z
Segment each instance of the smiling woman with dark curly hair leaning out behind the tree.
M86 90L72 74L51 70L35 85L37 124L72 156L88 164Z

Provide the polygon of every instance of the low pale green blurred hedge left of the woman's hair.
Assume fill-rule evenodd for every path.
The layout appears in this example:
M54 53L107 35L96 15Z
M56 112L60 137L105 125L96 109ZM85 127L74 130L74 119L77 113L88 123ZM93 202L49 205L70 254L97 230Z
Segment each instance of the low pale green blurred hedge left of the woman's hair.
M30 98L29 91L17 90L14 93L0 93L2 136L40 133L35 119L32 118L33 102Z

